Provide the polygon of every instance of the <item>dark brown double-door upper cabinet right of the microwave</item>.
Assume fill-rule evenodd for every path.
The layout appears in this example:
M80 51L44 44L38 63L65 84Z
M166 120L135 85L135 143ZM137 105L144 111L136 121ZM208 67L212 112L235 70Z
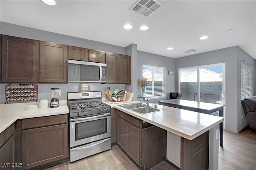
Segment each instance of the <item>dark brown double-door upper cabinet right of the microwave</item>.
M107 83L131 83L131 57L106 53Z

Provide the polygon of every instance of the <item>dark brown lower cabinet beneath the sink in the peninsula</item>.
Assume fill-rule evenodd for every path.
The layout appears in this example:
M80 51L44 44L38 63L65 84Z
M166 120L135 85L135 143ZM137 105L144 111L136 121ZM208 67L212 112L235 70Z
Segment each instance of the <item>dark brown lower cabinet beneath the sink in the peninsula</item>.
M116 143L142 169L166 160L166 130L116 110Z

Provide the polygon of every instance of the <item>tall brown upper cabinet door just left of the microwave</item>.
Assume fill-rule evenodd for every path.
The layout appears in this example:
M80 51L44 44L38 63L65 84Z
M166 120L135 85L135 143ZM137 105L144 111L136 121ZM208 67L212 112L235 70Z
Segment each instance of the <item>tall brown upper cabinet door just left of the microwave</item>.
M67 46L40 42L40 83L67 83Z

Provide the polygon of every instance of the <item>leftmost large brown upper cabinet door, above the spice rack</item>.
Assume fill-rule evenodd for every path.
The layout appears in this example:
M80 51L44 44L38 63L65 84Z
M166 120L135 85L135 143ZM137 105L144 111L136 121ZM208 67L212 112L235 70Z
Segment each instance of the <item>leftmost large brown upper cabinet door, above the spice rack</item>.
M38 42L2 36L2 82L36 83Z

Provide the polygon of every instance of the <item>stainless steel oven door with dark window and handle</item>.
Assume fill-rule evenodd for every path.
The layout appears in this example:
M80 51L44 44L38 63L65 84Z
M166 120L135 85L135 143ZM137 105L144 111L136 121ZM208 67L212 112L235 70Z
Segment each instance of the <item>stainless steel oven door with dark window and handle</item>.
M110 137L110 113L70 119L70 148Z

